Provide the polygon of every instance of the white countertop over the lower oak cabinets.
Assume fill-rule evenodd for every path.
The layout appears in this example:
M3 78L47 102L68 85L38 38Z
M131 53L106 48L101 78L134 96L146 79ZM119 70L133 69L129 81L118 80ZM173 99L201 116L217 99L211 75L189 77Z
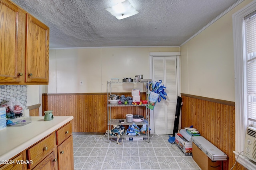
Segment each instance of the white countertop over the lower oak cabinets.
M48 136L73 116L54 116L53 120L44 121L44 116L32 116L32 122L24 126L8 126L0 130L0 160L9 160L16 154Z

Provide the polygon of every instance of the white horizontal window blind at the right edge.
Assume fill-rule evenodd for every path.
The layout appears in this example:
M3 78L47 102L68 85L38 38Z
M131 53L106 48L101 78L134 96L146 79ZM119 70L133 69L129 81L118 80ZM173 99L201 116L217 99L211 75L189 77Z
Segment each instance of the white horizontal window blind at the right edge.
M256 122L256 15L245 18L248 120Z

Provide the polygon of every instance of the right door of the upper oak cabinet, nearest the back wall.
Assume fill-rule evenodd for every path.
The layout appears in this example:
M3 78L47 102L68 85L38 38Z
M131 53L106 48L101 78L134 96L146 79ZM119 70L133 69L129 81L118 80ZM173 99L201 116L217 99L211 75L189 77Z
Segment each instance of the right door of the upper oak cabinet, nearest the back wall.
M25 82L48 84L49 28L30 14L26 22Z

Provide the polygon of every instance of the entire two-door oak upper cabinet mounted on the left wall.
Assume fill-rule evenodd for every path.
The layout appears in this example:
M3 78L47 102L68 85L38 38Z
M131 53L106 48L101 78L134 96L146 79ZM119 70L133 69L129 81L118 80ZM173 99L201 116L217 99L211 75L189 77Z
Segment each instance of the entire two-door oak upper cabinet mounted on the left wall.
M49 28L0 0L0 84L48 84Z

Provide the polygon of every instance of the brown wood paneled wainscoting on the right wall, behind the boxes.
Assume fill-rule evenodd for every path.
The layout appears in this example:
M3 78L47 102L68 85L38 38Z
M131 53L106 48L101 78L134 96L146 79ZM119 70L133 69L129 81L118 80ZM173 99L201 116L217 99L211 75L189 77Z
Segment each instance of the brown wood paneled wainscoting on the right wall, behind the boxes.
M208 141L228 155L223 170L230 170L236 162L235 150L235 102L205 98L189 94L182 97L182 128L191 125ZM244 170L238 162L233 170Z

